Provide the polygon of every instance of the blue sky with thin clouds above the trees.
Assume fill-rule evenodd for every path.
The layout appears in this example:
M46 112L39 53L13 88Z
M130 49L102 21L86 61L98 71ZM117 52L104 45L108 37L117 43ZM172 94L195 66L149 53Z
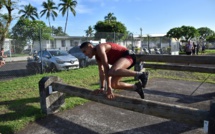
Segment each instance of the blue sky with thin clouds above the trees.
M47 0L19 0L19 5L29 3L43 10L42 2ZM56 5L60 0L53 0ZM134 35L166 34L171 28L193 26L196 29L208 27L215 31L215 0L76 0L76 16L69 14L67 34L70 36L86 36L85 30L94 27L98 21L104 21L108 13L113 13L117 21L123 23L127 31ZM20 7L23 9L23 7ZM5 12L3 9L1 12ZM14 11L16 16L18 10ZM15 19L11 27L17 22ZM46 16L40 18L48 26ZM58 17L51 25L64 29L66 16L58 12Z

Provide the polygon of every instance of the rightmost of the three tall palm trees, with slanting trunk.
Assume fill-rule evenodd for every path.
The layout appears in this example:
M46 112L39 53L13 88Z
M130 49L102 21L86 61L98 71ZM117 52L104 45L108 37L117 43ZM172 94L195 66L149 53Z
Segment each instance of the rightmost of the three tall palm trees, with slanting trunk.
M60 12L62 12L63 16L66 13L66 23L64 28L64 33L66 33L69 10L73 13L74 16L76 15L75 7L77 5L77 1L76 0L60 0L60 1L63 2L59 4L59 7L61 7Z

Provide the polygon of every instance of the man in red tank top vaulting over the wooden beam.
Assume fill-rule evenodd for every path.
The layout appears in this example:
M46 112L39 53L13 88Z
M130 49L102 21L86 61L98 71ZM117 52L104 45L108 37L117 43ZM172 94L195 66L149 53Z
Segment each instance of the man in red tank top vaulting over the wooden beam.
M98 63L101 87L95 91L96 94L104 92L104 87L107 82L108 99L115 97L112 88L134 90L144 99L142 88L145 88L147 84L148 73L129 70L135 65L136 58L134 54L129 54L127 48L115 43L101 43L93 46L90 42L84 42L81 44L80 49L89 58L95 56ZM112 66L109 67L109 64ZM132 76L137 76L139 82L129 84L120 81L122 77Z

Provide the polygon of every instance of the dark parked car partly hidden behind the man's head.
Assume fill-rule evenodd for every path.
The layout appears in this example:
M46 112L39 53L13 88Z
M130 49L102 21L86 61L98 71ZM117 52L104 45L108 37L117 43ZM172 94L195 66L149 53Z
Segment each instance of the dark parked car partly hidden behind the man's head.
M75 46L68 51L71 55L75 56L79 60L80 67L86 67L88 65L96 64L95 56L93 58L89 58L85 56L85 54L81 51L79 46Z

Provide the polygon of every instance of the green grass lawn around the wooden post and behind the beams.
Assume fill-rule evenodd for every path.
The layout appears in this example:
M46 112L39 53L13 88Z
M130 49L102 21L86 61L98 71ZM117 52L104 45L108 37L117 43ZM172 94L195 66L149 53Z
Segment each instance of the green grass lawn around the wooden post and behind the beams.
M215 84L215 75L207 73L191 73L180 71L165 71L147 69L150 78L167 78L190 80ZM77 70L62 71L54 74L38 74L1 82L0 86L0 133L11 134L23 129L30 122L45 118L39 103L38 82L44 76L58 76L63 83L84 87L91 90L99 87L97 66L89 66ZM208 78L209 76L209 78ZM134 83L134 78L123 80ZM66 103L61 110L71 109L87 102L78 97L66 97Z

